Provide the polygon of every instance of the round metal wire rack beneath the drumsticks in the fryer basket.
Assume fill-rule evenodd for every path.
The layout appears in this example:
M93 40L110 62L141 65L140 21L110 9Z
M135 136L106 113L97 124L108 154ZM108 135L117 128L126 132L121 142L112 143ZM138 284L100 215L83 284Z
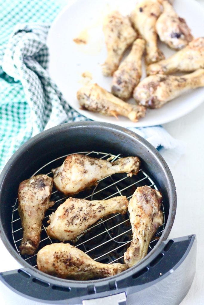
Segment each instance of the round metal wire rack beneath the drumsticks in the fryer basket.
M111 162L121 158L121 154L112 155L111 153L104 152L77 152L84 155L89 155L91 157L97 157L100 159L112 158ZM61 156L55 160L50 161L45 164L34 174L47 174L52 176L51 169L60 166L64 159L68 155ZM152 188L158 190L155 182L150 178L149 174L145 172L142 168L136 176L128 177L126 174L114 174L98 181L94 188L80 192L76 198L83 198L88 200L103 200L109 199L114 196L127 196L128 200L132 197L135 189L138 186L149 185ZM45 217L42 223L42 233L41 241L39 244L39 249L44 246L59 242L58 240L51 239L46 233L47 221L49 220L49 215L53 213L57 207L65 201L67 196L64 196L61 192L53 188L53 192L50 200L55 201L54 206L46 211ZM12 206L12 219L11 219L11 229L13 235L13 244L17 253L24 258L33 267L36 267L36 256L21 255L19 246L23 238L23 228L21 226L21 221L18 213L18 200L16 199L15 204ZM165 228L165 210L162 204L161 210L164 214L164 222L161 227L158 228L157 233L151 240L148 252L156 245L159 237ZM123 255L129 244L132 241L132 230L129 221L129 214L121 215L120 213L111 214L107 217L101 218L97 223L92 225L90 228L85 230L80 234L75 242L70 242L72 245L81 249L87 253L92 259L97 260L101 263L112 264L113 262L124 263ZM66 243L66 242L65 242Z

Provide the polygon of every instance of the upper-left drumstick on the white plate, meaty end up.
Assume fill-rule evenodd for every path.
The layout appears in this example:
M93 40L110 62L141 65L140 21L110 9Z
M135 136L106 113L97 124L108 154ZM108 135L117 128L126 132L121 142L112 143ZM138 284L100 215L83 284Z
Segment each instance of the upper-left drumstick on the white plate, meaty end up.
M137 34L129 18L122 16L118 11L106 16L103 32L108 53L103 65L103 75L112 76L119 66L124 51L136 39Z

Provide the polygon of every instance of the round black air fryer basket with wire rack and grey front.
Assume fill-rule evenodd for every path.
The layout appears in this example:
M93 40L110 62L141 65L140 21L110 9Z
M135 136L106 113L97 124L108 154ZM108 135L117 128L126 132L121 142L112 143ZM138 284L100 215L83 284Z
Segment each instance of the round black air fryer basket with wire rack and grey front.
M80 192L78 198L131 198L138 186L149 185L161 191L164 223L150 242L147 256L128 270L110 278L73 281L53 277L36 268L36 255L21 255L23 230L17 211L19 183L36 174L52 176L51 169L66 156L83 153L112 160L138 156L139 174L132 178L115 174L99 181L96 187ZM53 189L55 205L43 220L39 249L56 240L50 239L45 227L50 213L65 201ZM176 188L169 167L157 150L128 129L101 122L63 124L35 136L11 157L0 175L1 238L21 269L0 273L10 289L33 300L50 304L157 304L176 305L186 295L195 274L195 235L166 240L176 213ZM114 214L101 219L81 234L73 244L91 258L106 264L123 263L123 254L132 238L129 215Z

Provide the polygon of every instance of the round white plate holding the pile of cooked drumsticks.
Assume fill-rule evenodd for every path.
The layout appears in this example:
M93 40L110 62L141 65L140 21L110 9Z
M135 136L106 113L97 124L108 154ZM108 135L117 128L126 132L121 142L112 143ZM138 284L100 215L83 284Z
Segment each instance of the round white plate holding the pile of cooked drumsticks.
M62 91L65 99L84 116L122 127L143 127L164 124L192 111L204 101L204 88L188 91L168 102L160 109L148 109L146 116L134 123L125 117L106 117L98 113L81 110L76 92L85 84L83 72L92 74L92 81L110 91L111 77L102 75L102 63L106 59L106 47L102 32L104 16L112 10L123 15L135 7L135 0L75 0L69 1L65 9L54 20L47 38L50 49L50 76ZM175 0L174 8L186 19L194 37L204 36L204 10L195 0ZM76 44L74 38L83 38L87 44ZM174 53L160 44L165 57ZM143 73L143 77L145 73Z

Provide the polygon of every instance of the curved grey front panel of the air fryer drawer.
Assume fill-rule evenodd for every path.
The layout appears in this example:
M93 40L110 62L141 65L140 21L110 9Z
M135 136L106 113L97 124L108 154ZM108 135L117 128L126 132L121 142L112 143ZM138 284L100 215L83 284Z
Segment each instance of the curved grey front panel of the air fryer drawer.
M196 238L190 235L162 242L148 264L144 262L115 281L107 279L80 288L77 282L63 281L59 286L58 280L49 280L31 268L2 272L0 280L14 292L46 303L125 305L127 295L128 302L132 299L135 305L141 304L139 300L151 305L178 305L191 286L195 264Z

